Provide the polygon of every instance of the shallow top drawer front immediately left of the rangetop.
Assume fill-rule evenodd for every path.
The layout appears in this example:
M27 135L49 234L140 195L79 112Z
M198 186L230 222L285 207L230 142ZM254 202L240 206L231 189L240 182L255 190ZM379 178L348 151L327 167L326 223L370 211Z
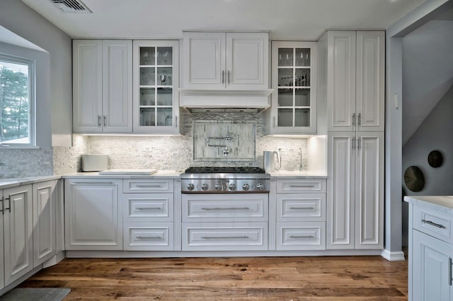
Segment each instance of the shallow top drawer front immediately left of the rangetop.
M162 193L173 194L173 179L123 179L122 192L124 193Z

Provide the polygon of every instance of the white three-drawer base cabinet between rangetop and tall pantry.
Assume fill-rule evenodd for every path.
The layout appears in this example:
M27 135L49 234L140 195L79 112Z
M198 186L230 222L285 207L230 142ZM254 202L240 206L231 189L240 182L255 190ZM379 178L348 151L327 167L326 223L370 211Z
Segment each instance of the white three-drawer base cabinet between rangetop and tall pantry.
M275 249L326 249L326 180L277 179L276 190Z

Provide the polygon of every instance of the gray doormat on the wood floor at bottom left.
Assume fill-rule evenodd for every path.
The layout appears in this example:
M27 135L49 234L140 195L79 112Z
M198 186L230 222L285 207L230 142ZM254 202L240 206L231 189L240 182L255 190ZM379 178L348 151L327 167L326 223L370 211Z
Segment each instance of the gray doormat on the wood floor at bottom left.
M61 301L70 288L14 288L0 297L1 301Z

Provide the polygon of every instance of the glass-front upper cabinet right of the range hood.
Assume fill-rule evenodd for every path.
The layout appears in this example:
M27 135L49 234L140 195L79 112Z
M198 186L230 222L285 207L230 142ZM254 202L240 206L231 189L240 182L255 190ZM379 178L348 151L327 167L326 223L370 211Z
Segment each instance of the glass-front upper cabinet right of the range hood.
M272 42L270 134L316 134L316 43Z

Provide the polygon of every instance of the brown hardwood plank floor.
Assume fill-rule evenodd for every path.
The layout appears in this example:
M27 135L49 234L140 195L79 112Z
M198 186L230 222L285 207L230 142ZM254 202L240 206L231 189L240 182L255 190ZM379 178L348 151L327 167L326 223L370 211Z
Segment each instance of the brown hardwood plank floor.
M64 259L21 287L64 300L407 300L407 261L380 256Z

